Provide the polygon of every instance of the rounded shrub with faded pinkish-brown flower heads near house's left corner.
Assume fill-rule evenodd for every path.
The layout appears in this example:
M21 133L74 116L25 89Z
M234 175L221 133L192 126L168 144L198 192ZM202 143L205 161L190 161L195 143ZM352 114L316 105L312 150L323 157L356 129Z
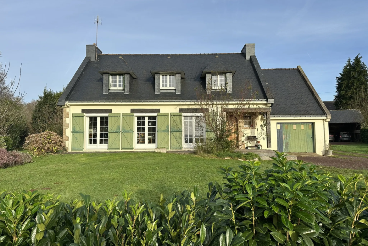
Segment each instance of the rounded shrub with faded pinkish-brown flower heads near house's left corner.
M56 153L66 147L63 139L56 132L46 131L26 137L23 148L33 155Z

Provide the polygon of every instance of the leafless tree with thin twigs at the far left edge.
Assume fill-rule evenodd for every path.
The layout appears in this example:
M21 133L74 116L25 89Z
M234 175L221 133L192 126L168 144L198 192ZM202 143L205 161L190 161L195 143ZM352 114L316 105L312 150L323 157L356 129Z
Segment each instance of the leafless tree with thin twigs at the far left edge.
M9 68L10 63L5 63L3 67L0 62L0 136L6 136L10 126L19 118L19 109L25 96L25 93L20 91L22 65L18 80L15 75L7 82Z

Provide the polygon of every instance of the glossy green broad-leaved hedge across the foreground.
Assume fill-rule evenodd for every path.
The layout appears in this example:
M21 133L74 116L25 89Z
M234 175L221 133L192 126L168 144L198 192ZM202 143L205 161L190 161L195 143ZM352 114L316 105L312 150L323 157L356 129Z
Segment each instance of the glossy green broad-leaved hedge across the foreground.
M276 154L263 173L259 161L225 166L226 183L210 183L205 197L195 188L158 204L134 202L127 192L104 204L82 194L63 203L36 191L4 192L0 245L368 245L368 179L333 179Z

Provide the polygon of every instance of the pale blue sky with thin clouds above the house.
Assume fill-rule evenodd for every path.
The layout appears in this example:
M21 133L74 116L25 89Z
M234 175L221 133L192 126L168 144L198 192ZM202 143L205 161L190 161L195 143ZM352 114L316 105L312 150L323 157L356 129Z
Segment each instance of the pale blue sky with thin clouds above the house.
M25 101L65 87L96 41L103 53L240 52L256 44L262 68L300 65L322 100L348 57L368 60L368 1L2 1L1 62Z

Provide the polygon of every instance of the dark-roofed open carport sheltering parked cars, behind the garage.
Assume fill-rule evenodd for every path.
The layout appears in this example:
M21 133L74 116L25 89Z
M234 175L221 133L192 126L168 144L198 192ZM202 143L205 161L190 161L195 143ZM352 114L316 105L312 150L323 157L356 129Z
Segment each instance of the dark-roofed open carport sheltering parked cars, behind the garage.
M359 109L337 110L335 101L323 101L331 114L331 120L328 122L329 131L333 135L340 132L349 132L354 142L361 141L361 122L363 115Z

